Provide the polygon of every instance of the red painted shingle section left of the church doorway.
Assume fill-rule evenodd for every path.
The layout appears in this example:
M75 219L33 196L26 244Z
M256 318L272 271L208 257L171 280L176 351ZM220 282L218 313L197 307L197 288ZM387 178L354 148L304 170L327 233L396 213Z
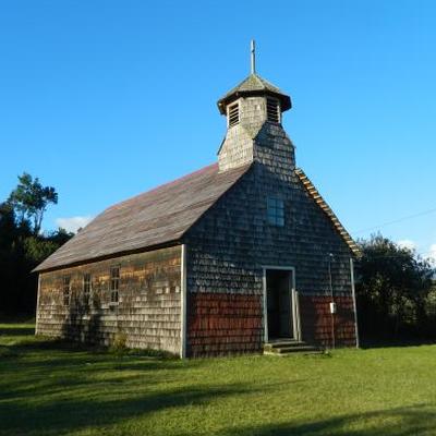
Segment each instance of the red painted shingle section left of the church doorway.
M261 295L187 295L187 356L261 352L263 331Z

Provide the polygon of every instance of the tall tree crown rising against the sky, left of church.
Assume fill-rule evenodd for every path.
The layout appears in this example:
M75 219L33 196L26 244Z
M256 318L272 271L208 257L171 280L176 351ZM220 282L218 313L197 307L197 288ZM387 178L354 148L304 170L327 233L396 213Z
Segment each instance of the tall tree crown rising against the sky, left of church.
M43 186L38 178L33 179L27 172L19 175L19 185L9 196L9 203L19 214L19 221L23 225L29 220L34 235L39 234L44 214L49 204L58 204L58 193L55 187Z

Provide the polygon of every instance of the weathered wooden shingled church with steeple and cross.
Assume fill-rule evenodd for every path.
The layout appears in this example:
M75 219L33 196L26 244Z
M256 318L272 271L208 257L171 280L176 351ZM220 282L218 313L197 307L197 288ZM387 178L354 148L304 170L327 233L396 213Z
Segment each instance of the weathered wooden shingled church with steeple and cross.
M291 99L254 62L252 47L218 101L218 162L107 208L35 269L37 335L181 358L358 346L359 250L295 167Z

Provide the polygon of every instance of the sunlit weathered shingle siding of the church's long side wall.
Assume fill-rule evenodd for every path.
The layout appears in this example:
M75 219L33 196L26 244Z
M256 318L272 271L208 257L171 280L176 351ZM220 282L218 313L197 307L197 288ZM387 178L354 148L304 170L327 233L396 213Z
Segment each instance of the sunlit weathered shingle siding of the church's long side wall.
M110 268L120 267L119 303L111 305ZM83 275L92 275L84 304ZM63 305L62 279L71 278L71 303ZM181 247L114 257L40 275L37 335L110 346L180 352Z

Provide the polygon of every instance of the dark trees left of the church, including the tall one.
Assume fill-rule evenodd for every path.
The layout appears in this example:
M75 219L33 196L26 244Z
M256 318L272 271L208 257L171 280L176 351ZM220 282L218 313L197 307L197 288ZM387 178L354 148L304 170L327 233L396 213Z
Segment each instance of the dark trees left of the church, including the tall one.
M58 203L51 186L24 173L10 196L0 203L0 315L34 315L40 262L73 234L63 229L41 233L44 213Z

